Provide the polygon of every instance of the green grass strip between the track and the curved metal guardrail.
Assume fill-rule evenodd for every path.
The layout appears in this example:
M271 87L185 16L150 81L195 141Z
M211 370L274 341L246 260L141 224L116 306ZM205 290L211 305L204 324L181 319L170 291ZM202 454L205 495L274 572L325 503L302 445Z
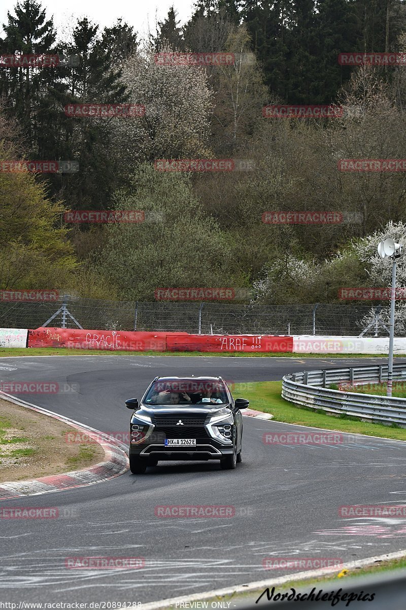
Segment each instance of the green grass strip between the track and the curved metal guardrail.
M247 387L248 386L248 387ZM393 428L380 423L360 422L356 417L340 414L338 417L299 407L281 397L281 381L258 381L235 384L233 395L236 398L247 398L250 408L271 413L276 422L293 423L312 428L324 428L367 436L382 436L386 439L406 440L405 428Z

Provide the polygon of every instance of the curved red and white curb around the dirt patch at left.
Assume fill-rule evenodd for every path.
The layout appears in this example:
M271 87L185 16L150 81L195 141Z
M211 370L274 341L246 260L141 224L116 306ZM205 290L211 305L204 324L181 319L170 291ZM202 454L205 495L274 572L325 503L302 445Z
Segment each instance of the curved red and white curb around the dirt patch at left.
M10 396L10 394L0 392L0 397L2 400L7 400L10 403L18 404L19 406L26 407L32 411L47 415L48 417L54 417L60 422L66 423L72 428L79 430L79 432L84 432L91 437L91 439L94 439L95 442L103 448L105 453L103 462L99 462L99 464L95 464L89 468L72 470L71 472L65 472L61 475L42 476L41 478L28 479L27 481L7 481L7 483L1 483L0 500L9 500L10 498L19 498L28 495L40 495L41 493L60 492L66 489L72 489L73 487L84 487L95 483L101 483L102 481L108 481L108 479L123 475L127 472L128 458L127 453L124 450L124 443L120 443L99 430L75 422L75 420L63 417L63 415L47 411L47 409L38 407L35 404L26 403L26 401L19 400L19 398Z

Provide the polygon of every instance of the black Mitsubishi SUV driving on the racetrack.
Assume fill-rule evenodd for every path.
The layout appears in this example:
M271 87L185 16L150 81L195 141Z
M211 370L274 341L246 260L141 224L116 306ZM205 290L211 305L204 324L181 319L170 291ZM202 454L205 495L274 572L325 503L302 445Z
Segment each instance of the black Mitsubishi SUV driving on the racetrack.
M125 401L130 422L130 470L159 460L242 459L242 415L250 402L234 398L221 377L156 377L142 397Z

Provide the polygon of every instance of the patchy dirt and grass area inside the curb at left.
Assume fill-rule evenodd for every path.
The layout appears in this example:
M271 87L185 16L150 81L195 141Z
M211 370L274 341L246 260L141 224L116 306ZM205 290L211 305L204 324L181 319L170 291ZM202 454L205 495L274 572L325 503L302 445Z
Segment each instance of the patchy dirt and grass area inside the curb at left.
M66 443L77 432L52 417L0 400L0 483L56 475L97 464L104 451L80 435L82 443ZM83 436L83 437L82 437Z

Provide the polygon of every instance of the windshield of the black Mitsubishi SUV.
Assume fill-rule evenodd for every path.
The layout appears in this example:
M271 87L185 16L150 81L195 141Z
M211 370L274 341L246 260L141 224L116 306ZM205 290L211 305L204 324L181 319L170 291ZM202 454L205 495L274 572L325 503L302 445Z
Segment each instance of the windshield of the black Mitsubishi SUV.
M165 379L155 381L144 404L228 404L225 386L212 379Z

